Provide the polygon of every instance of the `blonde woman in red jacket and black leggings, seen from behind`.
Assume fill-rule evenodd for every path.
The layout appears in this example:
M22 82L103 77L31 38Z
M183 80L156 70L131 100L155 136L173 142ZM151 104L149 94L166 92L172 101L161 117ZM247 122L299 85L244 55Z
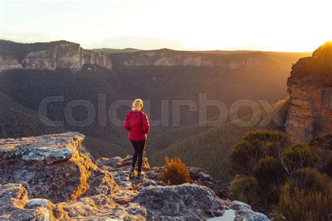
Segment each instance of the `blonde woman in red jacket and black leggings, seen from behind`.
M127 113L123 127L129 131L128 137L134 146L134 156L132 157L132 170L130 174L135 171L135 166L138 158L137 176L141 176L141 166L143 163L143 152L145 148L146 138L150 130L148 124L148 116L141 111L143 108L143 101L136 99L132 101L132 110Z

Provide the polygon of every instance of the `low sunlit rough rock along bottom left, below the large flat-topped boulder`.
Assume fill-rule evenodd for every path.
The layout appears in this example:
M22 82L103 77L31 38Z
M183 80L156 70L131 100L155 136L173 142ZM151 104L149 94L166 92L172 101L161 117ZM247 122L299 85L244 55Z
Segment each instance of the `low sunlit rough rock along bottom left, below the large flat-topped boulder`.
M48 199L29 199L20 184L0 185L1 220L145 220L146 210L139 204L119 205L111 196L99 194L78 201L53 204Z

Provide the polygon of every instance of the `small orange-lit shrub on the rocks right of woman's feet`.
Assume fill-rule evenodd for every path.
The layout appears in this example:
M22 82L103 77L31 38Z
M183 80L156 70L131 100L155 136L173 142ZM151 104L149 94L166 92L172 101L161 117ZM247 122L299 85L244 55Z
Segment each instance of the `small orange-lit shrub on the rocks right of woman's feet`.
M167 185L179 185L191 181L186 165L179 157L172 159L165 157L165 169L160 174L160 179Z

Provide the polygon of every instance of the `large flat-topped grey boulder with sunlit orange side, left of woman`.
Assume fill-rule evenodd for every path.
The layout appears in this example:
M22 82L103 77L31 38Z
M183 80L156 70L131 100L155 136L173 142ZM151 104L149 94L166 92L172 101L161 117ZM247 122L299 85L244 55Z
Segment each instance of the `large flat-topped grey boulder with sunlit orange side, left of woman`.
M0 140L0 183L20 183L30 198L53 203L118 189L111 174L83 152L76 132Z

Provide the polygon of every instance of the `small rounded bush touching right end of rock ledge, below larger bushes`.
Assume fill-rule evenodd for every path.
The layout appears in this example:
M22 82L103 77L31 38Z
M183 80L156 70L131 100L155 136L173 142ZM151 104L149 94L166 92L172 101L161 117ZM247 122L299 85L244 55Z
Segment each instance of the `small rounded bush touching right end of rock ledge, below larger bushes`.
M235 199L244 201L251 206L255 206L261 201L258 183L254 176L237 174L230 183L230 190L232 190Z

